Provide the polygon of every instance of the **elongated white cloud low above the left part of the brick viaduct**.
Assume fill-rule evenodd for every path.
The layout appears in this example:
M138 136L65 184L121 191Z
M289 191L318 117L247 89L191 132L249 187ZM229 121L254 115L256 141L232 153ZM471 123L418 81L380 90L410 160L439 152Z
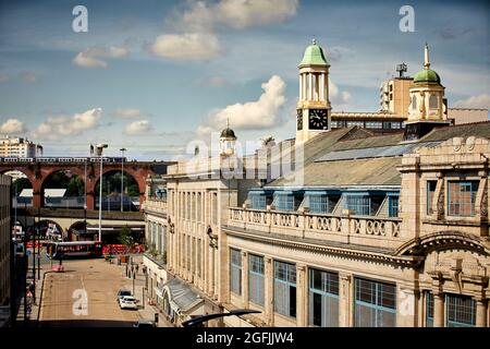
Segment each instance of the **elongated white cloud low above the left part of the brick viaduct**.
M99 125L102 109L95 108L72 117L50 117L32 132L33 139L58 140L60 136L78 135Z

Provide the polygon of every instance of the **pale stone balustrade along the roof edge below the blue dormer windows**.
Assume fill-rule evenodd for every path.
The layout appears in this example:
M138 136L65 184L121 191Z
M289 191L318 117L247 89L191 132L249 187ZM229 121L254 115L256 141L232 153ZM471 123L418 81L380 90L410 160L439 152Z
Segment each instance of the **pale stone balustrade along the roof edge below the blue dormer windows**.
M371 248L395 249L401 218L230 208L228 228L253 233L324 240Z

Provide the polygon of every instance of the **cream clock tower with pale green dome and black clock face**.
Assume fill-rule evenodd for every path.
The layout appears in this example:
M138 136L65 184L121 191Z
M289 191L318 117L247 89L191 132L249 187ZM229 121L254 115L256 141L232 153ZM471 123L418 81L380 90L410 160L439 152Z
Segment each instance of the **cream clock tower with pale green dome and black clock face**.
M330 130L329 68L314 39L298 65L299 98L296 107L296 143Z

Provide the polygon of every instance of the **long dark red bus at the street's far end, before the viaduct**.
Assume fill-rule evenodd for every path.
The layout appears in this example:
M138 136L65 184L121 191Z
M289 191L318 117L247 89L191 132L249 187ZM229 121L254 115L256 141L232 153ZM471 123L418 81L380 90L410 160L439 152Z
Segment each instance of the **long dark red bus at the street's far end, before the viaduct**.
M70 257L91 257L102 256L102 243L100 241L50 241L47 244L46 254L49 258L60 260Z

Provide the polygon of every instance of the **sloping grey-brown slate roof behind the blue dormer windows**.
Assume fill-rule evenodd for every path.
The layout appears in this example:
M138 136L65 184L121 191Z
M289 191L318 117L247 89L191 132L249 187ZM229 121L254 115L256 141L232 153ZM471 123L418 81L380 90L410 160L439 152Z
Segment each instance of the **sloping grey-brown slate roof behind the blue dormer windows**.
M433 147L452 137L490 139L490 121L437 128L417 142L404 142L403 133L370 135L356 127L324 132L305 146L305 166L266 185L336 188L401 185L403 154L421 146ZM355 135L360 135L355 137ZM363 136L364 135L364 136Z

